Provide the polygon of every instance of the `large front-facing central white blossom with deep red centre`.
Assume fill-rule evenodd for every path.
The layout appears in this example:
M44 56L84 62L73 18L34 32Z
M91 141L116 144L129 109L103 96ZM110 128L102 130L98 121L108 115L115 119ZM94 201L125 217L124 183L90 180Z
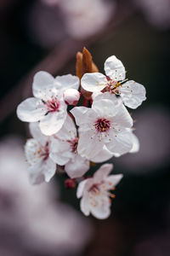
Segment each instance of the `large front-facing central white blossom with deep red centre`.
M71 109L79 125L77 151L87 159L102 154L105 146L111 154L125 154L133 148L133 119L122 102L109 92L94 98L92 108Z

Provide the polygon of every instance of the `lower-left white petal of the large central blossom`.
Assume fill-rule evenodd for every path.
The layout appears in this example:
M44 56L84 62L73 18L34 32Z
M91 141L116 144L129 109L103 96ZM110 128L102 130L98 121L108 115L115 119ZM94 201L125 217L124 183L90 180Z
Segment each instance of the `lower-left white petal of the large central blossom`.
M99 137L94 135L94 131L86 131L80 134L77 151L82 157L88 160L93 158L103 149L104 143L99 141Z

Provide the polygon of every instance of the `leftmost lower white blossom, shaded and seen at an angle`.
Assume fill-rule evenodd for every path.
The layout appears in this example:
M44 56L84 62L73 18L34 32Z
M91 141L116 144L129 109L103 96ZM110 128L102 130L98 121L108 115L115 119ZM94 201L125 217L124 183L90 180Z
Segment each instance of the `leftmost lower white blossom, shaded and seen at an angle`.
M56 164L50 157L50 138L42 135L38 123L30 124L33 138L26 142L26 160L31 184L49 182L56 171Z

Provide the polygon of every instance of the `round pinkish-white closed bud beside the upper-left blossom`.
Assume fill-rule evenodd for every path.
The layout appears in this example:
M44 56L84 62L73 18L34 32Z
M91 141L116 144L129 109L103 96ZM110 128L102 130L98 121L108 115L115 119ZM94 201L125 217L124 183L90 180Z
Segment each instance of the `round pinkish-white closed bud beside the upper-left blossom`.
M67 89L63 96L66 104L76 106L80 98L80 92L76 89Z

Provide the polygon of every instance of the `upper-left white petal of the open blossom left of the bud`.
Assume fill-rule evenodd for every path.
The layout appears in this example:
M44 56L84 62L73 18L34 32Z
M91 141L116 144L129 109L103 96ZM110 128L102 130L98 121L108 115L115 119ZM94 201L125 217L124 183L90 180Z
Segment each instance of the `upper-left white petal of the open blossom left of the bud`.
M33 95L37 98L42 98L42 90L53 86L54 77L45 71L39 71L35 74L32 84Z

